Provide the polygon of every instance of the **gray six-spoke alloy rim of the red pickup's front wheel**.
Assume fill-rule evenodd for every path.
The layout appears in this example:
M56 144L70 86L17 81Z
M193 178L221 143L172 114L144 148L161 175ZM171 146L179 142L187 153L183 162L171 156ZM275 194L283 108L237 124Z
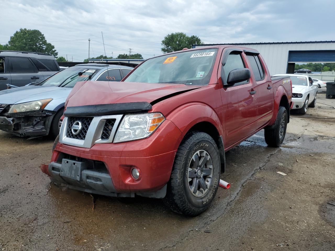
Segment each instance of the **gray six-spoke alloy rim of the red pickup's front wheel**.
M213 177L213 162L205 150L197 151L191 158L187 171L187 182L195 197L202 197L208 191Z

